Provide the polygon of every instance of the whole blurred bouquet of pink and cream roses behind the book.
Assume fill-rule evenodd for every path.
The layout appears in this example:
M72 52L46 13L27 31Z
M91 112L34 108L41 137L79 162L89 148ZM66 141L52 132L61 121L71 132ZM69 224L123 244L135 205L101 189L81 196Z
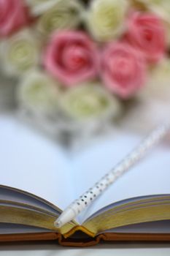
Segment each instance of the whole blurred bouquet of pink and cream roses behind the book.
M31 125L86 140L136 102L169 102L169 1L0 0L0 10L1 70Z

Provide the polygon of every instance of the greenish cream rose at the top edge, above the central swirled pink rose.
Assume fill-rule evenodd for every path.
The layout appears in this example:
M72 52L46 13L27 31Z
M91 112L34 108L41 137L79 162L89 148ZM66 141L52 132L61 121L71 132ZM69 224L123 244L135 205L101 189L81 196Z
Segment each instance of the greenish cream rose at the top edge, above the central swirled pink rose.
M53 31L74 29L80 24L82 11L79 0L58 0L39 17L36 27L45 36Z

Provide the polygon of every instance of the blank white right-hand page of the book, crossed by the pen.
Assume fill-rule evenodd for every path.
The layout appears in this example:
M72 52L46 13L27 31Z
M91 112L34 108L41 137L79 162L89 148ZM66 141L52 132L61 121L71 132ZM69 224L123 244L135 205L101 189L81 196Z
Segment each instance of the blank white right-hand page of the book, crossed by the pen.
M117 135L99 140L96 145L81 151L74 159L76 197L126 156L142 138L133 135ZM158 146L138 165L120 177L107 191L94 201L82 214L82 223L100 208L131 197L144 195L170 194L170 145L169 148Z

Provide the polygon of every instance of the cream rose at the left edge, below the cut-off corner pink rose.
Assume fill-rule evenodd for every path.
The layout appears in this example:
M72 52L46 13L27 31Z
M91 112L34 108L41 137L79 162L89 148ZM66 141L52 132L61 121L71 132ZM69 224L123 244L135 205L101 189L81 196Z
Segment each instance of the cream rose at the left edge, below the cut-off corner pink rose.
M1 44L4 71L9 75L23 75L39 64L40 42L34 31L23 30Z

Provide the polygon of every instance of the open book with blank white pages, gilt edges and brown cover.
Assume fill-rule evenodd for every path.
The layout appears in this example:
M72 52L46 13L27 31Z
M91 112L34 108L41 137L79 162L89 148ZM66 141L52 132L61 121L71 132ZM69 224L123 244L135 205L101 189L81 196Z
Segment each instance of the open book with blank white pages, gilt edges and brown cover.
M170 146L165 143L58 230L64 208L117 164L141 138L119 132L76 154L15 118L0 118L0 241L65 245L170 240Z

